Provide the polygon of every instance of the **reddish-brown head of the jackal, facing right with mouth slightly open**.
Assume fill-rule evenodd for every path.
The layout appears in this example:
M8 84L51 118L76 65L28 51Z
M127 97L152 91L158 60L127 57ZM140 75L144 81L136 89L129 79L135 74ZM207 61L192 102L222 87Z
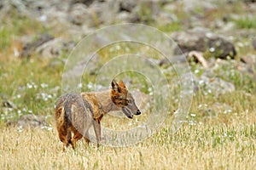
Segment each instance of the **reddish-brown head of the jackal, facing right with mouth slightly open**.
M114 105L121 108L125 116L132 119L133 115L141 114L141 111L137 108L131 93L128 92L123 81L115 82L113 80L111 86L111 99Z

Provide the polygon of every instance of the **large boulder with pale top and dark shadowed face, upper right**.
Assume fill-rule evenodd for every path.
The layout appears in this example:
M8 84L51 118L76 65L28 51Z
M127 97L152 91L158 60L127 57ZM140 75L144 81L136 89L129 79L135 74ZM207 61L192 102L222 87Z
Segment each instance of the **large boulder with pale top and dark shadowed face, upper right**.
M211 31L203 29L192 31L174 32L171 36L177 42L174 54L188 53L190 51L211 52L216 58L225 59L236 56L236 48L233 42L225 37L220 37Z

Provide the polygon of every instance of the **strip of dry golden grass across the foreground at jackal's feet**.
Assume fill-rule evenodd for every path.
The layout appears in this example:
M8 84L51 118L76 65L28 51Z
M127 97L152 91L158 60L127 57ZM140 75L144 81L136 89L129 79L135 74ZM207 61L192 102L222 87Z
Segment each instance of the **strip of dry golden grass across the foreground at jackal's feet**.
M62 152L52 130L1 127L2 169L253 169L256 166L255 112L239 120L189 126L171 133L171 118L153 137L130 147L112 148L79 141ZM107 120L105 120L107 121ZM214 120L218 122L218 120Z

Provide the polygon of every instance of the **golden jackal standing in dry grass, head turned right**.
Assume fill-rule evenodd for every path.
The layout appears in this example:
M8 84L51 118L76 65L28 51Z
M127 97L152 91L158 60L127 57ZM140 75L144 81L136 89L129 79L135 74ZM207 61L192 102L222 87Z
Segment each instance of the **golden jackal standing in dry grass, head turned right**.
M63 151L69 144L75 149L76 142L83 137L89 144L88 130L92 125L99 146L102 116L109 111L122 111L129 118L141 114L123 81L113 80L111 86L111 89L102 92L64 94L58 99L55 121Z

